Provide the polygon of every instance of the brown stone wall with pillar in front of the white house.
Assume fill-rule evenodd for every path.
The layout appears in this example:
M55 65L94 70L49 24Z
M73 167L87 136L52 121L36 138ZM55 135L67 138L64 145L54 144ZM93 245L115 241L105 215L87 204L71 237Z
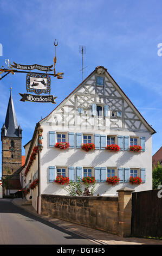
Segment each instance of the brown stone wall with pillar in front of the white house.
M124 188L119 191L119 198L42 194L41 214L119 236L129 236L131 235L131 193L130 188L127 190Z

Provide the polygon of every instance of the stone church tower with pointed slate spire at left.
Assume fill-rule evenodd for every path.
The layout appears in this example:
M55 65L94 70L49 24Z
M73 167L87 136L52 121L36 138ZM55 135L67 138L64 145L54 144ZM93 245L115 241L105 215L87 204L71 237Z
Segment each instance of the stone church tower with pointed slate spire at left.
M11 92L5 122L1 129L1 141L2 177L7 175L7 170L10 170L11 175L16 174L22 166L22 129L17 124Z

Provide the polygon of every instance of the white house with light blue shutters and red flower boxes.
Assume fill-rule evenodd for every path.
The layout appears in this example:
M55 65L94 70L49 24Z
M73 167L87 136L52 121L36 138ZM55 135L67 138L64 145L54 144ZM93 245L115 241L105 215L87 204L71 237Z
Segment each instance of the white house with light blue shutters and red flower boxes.
M116 191L125 186L135 191L151 190L154 133L107 69L96 67L36 124L33 138L25 145L27 199L32 197L40 213L41 194L66 195L62 185L54 182L59 175L73 181L77 176L95 176L94 195L100 196L117 196ZM69 148L68 144L67 149L56 148L58 143L69 143ZM95 149L86 151L83 143L94 144ZM110 176L118 176L119 184L108 184ZM138 176L142 184L132 185L130 176Z

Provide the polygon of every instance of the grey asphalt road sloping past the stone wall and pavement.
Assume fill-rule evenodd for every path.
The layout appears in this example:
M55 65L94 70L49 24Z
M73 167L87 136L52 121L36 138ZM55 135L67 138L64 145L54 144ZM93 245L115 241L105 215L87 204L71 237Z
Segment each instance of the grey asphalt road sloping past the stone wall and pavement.
M96 245L0 199L0 245Z

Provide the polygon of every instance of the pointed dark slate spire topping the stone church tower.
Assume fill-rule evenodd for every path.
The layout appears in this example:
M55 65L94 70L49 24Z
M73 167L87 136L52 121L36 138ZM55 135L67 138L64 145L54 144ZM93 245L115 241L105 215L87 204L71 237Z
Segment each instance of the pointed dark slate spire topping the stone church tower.
M7 137L22 137L22 132L20 132L20 130L22 129L17 124L14 102L12 100L12 92L10 92L7 114L5 117L4 125L2 126L2 129L1 129L2 131L1 135L7 136Z

